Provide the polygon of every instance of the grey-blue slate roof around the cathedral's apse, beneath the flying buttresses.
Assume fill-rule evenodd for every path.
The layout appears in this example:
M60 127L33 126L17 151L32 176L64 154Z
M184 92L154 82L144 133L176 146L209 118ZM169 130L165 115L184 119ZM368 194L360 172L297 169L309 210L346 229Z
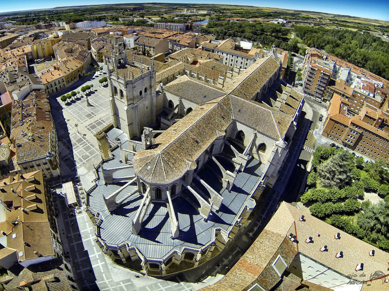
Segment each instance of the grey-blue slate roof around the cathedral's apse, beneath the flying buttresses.
M110 132L108 132L109 134ZM117 134L120 134L120 132L116 132L111 137ZM113 155L119 157L119 149L116 149ZM118 158L115 158L112 161L105 162L104 168L113 168L120 165L123 164L119 162ZM131 221L141 203L142 196L140 194L132 195L124 201L121 207L109 213L103 196L118 190L126 181L105 185L104 180L99 180L97 188L89 196L89 205L103 216L103 223L100 226L102 240L108 244L127 242L130 246L137 247L143 256L150 259L160 259L168 255L169 252L181 252L183 247L200 248L206 245L213 240L214 228L216 227L226 231L229 230L246 205L254 207L254 202L249 197L263 175L263 168L263 164L251 158L245 171L237 173L234 186L229 192L223 189L221 182L213 172L220 171L216 163L212 160L208 161L207 165L198 171L197 175L223 196L222 206L218 213L212 212L208 222L205 222L198 210L186 198L183 196L174 197L173 207L180 226L180 236L177 239L171 238L169 214L165 204L161 203L151 203L148 207L140 235L135 236L131 233L131 227L128 226L131 225ZM118 176L134 173L131 168L125 169L126 172L122 171L124 170L119 171ZM99 170L99 176L103 177L101 170ZM200 183L194 183L201 187L199 186ZM129 192L135 188L136 186L129 186L127 189ZM116 199L120 200L124 195L119 194ZM195 201L195 197L191 193L186 193L186 195L188 199Z

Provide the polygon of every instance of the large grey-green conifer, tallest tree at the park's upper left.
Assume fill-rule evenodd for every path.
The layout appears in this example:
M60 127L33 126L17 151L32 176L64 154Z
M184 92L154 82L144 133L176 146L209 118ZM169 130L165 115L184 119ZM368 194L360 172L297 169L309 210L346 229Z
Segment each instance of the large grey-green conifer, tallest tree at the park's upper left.
M343 188L351 180L354 156L348 151L338 152L318 167L320 184L328 188Z

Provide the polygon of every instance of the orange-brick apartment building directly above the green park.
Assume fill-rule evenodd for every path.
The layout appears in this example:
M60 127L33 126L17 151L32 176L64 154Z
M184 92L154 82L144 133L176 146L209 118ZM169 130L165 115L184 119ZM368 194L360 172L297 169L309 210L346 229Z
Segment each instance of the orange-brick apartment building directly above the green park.
M359 114L354 115L349 107L348 100L334 94L322 135L368 158L388 160L389 113L363 103Z

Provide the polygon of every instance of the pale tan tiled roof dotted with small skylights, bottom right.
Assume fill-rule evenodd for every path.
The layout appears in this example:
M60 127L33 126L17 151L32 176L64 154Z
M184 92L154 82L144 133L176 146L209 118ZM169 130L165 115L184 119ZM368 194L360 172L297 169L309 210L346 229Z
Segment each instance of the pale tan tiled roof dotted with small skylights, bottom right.
M301 215L304 215L304 221L300 220ZM280 225L284 227L280 229ZM285 232L287 226L292 227ZM283 233L284 236L289 233L295 234L299 241L298 245L301 253L340 274L347 276L360 275L358 271L355 271L356 266L360 263L364 263L363 272L365 274L373 274L376 271L381 271L386 275L389 274L389 253L363 242L288 203L283 202L280 205L266 228ZM337 233L340 233L339 240L335 239ZM305 240L309 237L314 238L313 243L305 243ZM323 245L327 245L327 252L320 251ZM371 250L375 251L373 257L369 255ZM340 251L343 252L343 258L336 258L336 253Z

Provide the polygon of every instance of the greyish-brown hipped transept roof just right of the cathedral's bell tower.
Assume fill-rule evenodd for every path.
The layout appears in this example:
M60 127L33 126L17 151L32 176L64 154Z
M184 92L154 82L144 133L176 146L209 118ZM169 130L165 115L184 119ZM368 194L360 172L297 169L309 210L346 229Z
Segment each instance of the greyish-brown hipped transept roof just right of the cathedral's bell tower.
M176 96L190 100L195 104L203 104L226 95L225 92L212 86L211 84L198 81L194 78L189 78L186 75L170 82L163 89L164 91L170 92Z

